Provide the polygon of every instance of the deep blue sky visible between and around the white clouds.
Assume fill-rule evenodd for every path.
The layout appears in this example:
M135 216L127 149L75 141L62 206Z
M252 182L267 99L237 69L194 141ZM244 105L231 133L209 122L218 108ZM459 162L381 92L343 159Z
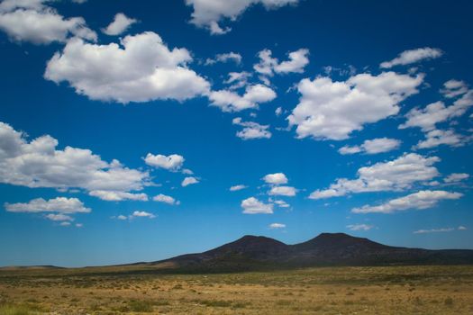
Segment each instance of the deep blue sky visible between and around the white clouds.
M438 129L454 129L464 136L461 146L441 145L413 149L423 139L423 130L399 130L405 114L414 106L423 108L445 101L439 93L450 79L473 85L473 32L469 1L300 1L297 5L265 10L260 4L248 8L234 22L223 21L232 31L211 35L202 27L188 23L193 7L184 1L96 1L73 4L63 0L52 5L57 14L81 16L96 31L97 44L117 42L117 36L100 31L114 14L123 13L139 20L121 37L153 31L169 49L186 48L193 62L186 67L205 77L212 90L222 89L229 72L254 73L253 65L262 49L270 49L279 61L287 53L309 49L309 63L302 73L269 77L277 97L260 103L259 110L223 112L209 106L209 98L196 96L183 102L156 99L146 103L117 103L91 100L77 94L68 82L59 85L44 77L46 64L66 42L37 45L31 40L14 40L0 31L0 121L14 130L27 133L27 141L50 135L58 139L56 149L87 148L102 160L118 159L127 167L148 170L156 186L139 193L150 199L163 193L180 201L163 202L104 201L88 195L83 187L68 191L54 187L31 188L21 184L0 184L0 266L58 265L95 266L150 261L188 252L197 252L240 238L245 234L265 235L287 243L313 238L321 232L346 232L389 245L428 248L473 248L471 178L444 184L452 173L471 174L471 110L442 121ZM0 29L1 30L1 29ZM387 119L366 123L363 130L350 133L349 139L296 139L296 130L287 128L287 116L299 103L294 88L303 78L327 76L323 67L348 69L356 74L380 74L379 64L396 58L409 49L440 49L440 58L420 60L393 67L407 74L411 67L424 73L419 93L400 102L400 112ZM233 51L241 64L232 61L205 66L206 58ZM388 71L388 70L387 70ZM356 75L356 74L353 74ZM333 81L350 75L333 72ZM414 76L414 75L413 75ZM258 83L258 76L252 78ZM293 88L291 88L293 87ZM244 90L238 90L240 94ZM282 107L283 114L275 110ZM256 117L250 115L256 114ZM350 114L347 112L347 114ZM241 126L232 119L270 125L270 139L240 139ZM0 134L0 139L2 135ZM366 139L390 138L402 141L400 148L378 154L341 155L342 146L359 145ZM1 146L1 142L0 142ZM309 199L315 190L324 190L337 178L354 179L359 167L387 162L404 153L440 157L434 164L440 175L432 178L437 186L413 183L402 189L368 193L346 193L327 199ZM186 175L147 166L143 160L153 155L178 154L185 157L200 183L181 186ZM0 157L4 158L4 157ZM6 165L6 164L2 164ZM4 169L8 173L8 170ZM297 189L294 197L272 197L290 204L276 204L272 214L242 213L241 202L255 197L269 204L262 177L282 172L289 186ZM235 184L248 188L230 192ZM78 188L78 189L77 189ZM428 209L408 209L393 213L352 213L353 208L378 205L417 193L420 190L462 193L460 198L441 200ZM137 193L137 192L133 192ZM46 212L6 211L4 203L30 202L56 197L78 198L92 211L74 215L73 224L60 226L47 220ZM133 211L147 211L153 219L117 220ZM115 217L115 218L113 218ZM83 224L77 228L76 223ZM270 229L271 223L286 225ZM350 225L366 224L368 230L350 230ZM458 229L460 226L466 229ZM430 233L414 233L421 229ZM448 231L435 231L445 229Z

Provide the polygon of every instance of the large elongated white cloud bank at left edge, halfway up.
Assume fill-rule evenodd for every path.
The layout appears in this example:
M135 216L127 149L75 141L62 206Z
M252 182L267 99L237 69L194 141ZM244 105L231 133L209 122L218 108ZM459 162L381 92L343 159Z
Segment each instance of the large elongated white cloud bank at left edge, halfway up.
M28 141L23 132L0 122L0 183L31 188L82 188L91 191L139 191L149 174L105 162L89 149L57 149L49 135Z

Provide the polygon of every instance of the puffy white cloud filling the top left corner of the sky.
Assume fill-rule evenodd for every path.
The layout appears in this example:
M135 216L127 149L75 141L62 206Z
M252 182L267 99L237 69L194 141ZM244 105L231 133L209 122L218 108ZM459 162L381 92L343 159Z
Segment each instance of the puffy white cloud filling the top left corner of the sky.
M33 44L64 42L71 36L96 40L95 31L86 27L82 17L65 18L45 5L47 1L5 0L0 4L0 30L15 41Z

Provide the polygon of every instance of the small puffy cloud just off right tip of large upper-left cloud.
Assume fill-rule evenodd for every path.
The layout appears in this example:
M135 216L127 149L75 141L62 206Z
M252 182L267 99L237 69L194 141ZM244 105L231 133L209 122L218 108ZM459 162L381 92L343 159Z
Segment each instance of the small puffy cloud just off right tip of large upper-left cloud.
M276 92L266 85L249 85L242 96L230 90L212 91L209 94L211 104L223 112L240 112L258 108L259 103L268 103L276 98Z

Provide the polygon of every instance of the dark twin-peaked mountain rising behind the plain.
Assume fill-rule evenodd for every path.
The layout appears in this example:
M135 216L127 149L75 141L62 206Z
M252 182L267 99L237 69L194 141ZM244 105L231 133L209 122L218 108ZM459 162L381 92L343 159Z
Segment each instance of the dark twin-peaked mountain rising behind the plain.
M468 265L473 250L390 247L368 238L323 233L287 245L273 238L244 236L199 254L150 263L180 271L228 272L306 266Z

